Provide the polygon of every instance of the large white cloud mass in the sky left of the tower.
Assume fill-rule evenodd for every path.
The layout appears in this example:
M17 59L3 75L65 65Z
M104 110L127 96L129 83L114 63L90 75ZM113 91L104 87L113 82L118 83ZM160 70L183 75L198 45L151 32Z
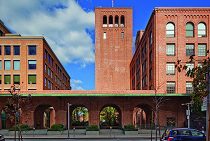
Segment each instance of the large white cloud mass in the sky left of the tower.
M44 35L62 63L94 62L94 12L75 0L1 0L0 19L22 35Z

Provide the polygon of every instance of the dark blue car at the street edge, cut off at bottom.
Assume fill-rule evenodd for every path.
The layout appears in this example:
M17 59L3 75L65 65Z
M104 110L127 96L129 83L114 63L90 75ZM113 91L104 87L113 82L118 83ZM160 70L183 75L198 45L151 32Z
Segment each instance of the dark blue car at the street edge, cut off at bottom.
M161 141L206 141L206 136L201 131L189 128L167 129Z

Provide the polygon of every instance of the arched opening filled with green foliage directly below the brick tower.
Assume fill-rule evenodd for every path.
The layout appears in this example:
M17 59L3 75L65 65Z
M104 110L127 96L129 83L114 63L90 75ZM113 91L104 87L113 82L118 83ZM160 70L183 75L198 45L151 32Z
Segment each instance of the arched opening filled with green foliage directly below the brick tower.
M122 112L117 105L105 105L100 110L99 119L100 128L120 128L122 125Z

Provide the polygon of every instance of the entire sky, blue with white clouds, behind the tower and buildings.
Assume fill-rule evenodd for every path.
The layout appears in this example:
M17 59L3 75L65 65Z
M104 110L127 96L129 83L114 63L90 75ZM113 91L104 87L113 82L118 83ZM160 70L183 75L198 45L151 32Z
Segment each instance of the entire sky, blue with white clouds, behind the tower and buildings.
M0 0L0 19L16 33L44 36L71 76L73 89L95 89L94 8L112 0ZM210 7L209 0L114 0L133 8L133 38L155 7ZM12 9L12 10L11 10Z

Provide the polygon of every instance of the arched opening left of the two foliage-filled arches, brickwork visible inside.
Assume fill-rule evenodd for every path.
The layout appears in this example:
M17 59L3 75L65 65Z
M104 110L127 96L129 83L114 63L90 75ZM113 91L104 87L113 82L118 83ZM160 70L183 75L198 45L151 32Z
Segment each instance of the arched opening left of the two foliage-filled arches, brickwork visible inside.
M55 110L51 105L39 105L34 112L34 127L36 129L50 128L55 124Z

